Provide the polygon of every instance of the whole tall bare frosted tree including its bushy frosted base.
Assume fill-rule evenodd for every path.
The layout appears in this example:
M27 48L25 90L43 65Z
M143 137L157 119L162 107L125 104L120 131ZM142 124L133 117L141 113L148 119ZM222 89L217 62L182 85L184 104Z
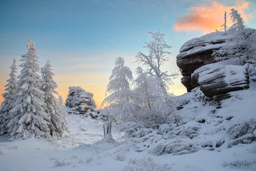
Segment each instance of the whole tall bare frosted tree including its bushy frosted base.
M170 52L168 49L172 48L167 45L164 41L164 34L160 33L159 30L156 33L151 33L152 41L146 42L145 48L149 50L149 54L145 55L139 52L136 55L136 61L142 63L142 65L147 67L147 73L151 76L157 78L155 81L156 90L161 90L161 96L154 100L154 105L156 109L156 113L154 114L156 117L163 121L166 120L170 114L174 113L174 104L172 99L172 94L168 94L168 84L173 83L173 79L178 76L178 73L167 74L167 71L162 71L161 67L165 61L169 60L168 54ZM167 121L167 120L166 120Z

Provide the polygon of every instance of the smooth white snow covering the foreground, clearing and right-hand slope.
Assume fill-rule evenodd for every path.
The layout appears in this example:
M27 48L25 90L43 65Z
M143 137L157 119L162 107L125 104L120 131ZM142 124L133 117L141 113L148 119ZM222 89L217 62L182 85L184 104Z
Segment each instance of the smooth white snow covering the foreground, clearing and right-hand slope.
M212 109L221 117L232 115L238 119L239 116L241 119L256 118L255 90L255 82L252 82L250 89L232 92L233 97L224 100L220 109L190 102L177 114L188 123L193 118L205 119L205 123L195 121L193 124L202 125L198 138L202 142L208 141L211 138L207 130L210 131L212 127L207 129L206 123L212 116L208 114ZM190 95L187 93L180 99L189 99ZM190 154L156 156L147 150L136 152L136 145L128 139L116 143L100 142L103 138L101 121L84 115L68 115L67 121L70 133L65 133L62 140L26 139L8 142L5 137L1 137L0 170L256 170L255 141L220 150L202 148ZM217 134L212 134L212 139L219 138ZM117 136L114 134L114 138Z

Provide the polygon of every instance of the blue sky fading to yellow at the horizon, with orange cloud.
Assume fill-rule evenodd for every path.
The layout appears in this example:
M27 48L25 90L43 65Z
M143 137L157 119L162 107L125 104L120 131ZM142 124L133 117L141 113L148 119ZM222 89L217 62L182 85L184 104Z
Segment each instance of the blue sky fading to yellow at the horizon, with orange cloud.
M4 93L12 59L26 54L27 39L36 45L40 66L51 60L58 93L66 100L69 87L94 94L99 108L117 57L134 71L135 55L160 29L172 46L162 71L179 71L176 56L185 41L220 29L224 12L237 9L245 25L256 28L256 1L130 0L130 1L0 1L0 94ZM228 16L227 25L230 26ZM20 62L18 62L19 64ZM186 88L174 80L169 92ZM0 97L0 103L3 97Z

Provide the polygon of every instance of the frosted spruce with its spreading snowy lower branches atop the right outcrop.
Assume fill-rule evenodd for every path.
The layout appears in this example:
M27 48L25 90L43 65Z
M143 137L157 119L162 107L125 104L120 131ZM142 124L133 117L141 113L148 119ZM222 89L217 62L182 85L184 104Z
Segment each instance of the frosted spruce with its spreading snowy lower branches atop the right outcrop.
M255 30L244 26L243 18L237 10L231 9L230 15L233 25L227 31L225 46L214 51L212 55L216 61L232 58L240 65L255 63Z

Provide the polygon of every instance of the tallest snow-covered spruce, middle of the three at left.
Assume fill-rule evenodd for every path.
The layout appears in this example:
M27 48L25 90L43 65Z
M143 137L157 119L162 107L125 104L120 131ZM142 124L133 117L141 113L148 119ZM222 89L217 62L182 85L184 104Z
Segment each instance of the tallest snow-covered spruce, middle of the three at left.
M22 55L22 68L18 75L17 91L10 110L7 124L10 140L16 138L50 137L50 117L45 112L45 93L40 90L40 67L36 47L31 39L27 42L28 52Z

